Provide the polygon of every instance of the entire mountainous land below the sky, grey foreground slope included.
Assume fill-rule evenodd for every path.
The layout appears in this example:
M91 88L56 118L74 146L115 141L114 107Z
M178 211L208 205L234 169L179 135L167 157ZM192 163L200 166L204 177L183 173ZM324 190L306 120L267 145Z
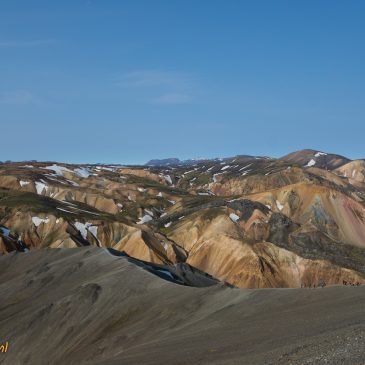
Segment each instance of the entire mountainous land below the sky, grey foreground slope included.
M364 160L0 165L1 364L361 364L363 284Z

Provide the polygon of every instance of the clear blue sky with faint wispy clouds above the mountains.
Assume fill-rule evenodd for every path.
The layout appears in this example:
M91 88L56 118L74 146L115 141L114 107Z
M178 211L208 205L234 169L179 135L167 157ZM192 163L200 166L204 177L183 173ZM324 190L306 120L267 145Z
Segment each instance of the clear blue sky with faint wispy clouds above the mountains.
M0 160L365 158L364 1L0 0Z

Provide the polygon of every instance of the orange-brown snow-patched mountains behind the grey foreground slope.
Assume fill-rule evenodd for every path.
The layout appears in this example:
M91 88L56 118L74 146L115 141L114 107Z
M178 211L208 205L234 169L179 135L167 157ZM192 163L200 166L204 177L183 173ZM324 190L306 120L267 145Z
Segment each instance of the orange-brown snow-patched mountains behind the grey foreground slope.
M364 283L364 161L303 150L1 164L0 252L80 246L237 287Z

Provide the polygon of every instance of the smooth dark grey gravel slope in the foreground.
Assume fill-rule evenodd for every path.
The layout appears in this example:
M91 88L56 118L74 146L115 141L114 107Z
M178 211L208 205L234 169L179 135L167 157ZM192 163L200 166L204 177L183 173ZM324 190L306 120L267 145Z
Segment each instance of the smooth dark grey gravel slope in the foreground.
M364 364L365 287L188 287L98 247L0 257L0 363Z

